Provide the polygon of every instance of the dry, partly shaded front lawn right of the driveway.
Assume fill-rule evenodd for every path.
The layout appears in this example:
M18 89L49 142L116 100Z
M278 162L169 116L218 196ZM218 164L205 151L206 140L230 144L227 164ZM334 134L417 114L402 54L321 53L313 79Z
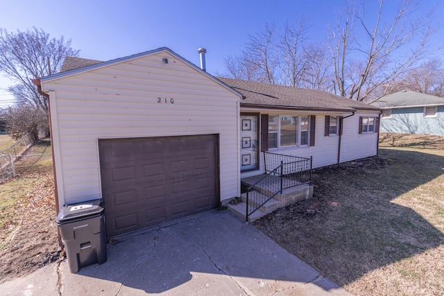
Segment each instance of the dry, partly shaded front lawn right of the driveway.
M379 157L315 169L313 198L255 226L354 295L444 295L444 137L380 139Z

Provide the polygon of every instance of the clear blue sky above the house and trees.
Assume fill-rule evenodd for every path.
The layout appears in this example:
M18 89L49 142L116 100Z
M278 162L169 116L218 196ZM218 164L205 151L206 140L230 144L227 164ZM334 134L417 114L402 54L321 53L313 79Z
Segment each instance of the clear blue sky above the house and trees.
M359 0L358 0L359 2ZM387 0L385 17L395 11L398 0ZM367 9L377 0L366 0ZM35 26L51 37L65 36L80 49L81 58L111 60L167 46L183 58L199 64L197 49L207 49L207 71L223 73L223 61L236 55L266 21L283 25L302 18L309 22L309 37L325 40L327 24L345 0L28 0L3 1L0 28L26 31ZM436 6L436 21L444 16L440 0L422 0L418 15ZM444 44L444 28L434 36L435 46ZM441 44L440 44L441 42ZM3 90L10 80L0 78L0 103L10 101Z

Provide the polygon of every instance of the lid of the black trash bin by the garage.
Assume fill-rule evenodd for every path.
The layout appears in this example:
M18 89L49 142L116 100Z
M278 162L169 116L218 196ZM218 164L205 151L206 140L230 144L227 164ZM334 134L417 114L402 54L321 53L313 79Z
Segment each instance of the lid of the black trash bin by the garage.
M103 212L103 200L89 200L87 202L78 202L76 204L65 204L60 209L56 223L63 224L71 220L82 220L100 216Z

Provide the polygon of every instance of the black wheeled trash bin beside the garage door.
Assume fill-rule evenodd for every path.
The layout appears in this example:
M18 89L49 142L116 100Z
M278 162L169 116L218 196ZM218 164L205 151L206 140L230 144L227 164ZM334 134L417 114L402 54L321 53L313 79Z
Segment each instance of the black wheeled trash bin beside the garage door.
M56 224L65 244L69 270L106 261L106 231L103 200L65 205Z

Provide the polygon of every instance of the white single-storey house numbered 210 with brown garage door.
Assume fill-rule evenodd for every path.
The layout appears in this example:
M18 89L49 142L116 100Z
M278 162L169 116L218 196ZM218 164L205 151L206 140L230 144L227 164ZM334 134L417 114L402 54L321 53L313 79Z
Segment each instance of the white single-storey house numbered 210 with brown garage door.
M377 155L379 109L327 92L215 78L170 49L67 58L49 96L58 207L103 198L107 236L207 211L263 174Z

